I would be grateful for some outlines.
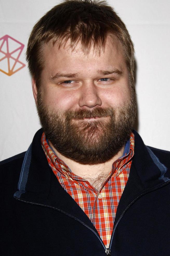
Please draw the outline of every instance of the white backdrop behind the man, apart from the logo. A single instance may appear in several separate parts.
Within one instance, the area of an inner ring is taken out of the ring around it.
[[[19,57],[24,64],[33,25],[57,3],[0,0],[0,38],[8,34],[25,45]],[[135,45],[137,130],[145,144],[170,150],[170,1],[110,0],[109,3],[125,22]],[[0,61],[2,69],[1,66]],[[11,76],[0,72],[0,81],[0,160],[3,160],[27,150],[40,124],[27,65]]]

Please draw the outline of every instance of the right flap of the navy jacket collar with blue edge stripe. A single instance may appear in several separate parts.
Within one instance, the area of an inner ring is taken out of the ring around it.
[[[170,181],[166,177],[167,167],[143,143],[139,134],[136,131],[133,133],[135,135],[134,157],[127,184],[117,207],[115,223],[136,198]]]

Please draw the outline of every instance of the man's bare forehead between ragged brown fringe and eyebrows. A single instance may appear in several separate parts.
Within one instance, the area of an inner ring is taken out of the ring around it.
[[[91,45],[89,48],[84,48],[80,42],[76,45],[71,44],[70,40],[64,42],[59,47],[58,42],[53,43],[50,40],[45,44],[44,51],[44,68],[51,71],[51,74],[65,69],[74,72],[88,71],[89,69],[109,69],[109,68],[126,68],[123,47],[120,40],[110,35],[107,37],[104,46],[101,48]],[[107,66],[107,67],[106,67]]]

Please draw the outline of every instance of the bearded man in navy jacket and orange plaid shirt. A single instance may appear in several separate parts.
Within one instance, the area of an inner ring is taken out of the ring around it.
[[[1,162],[1,255],[169,255],[169,152],[133,129],[134,48],[105,2],[64,1],[27,48],[42,124]]]

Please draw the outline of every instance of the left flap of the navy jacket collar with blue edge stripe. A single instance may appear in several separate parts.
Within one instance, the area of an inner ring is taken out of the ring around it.
[[[79,219],[90,226],[93,224],[73,198],[62,188],[51,170],[41,146],[42,129],[38,130],[25,153],[14,197],[18,200],[48,206]]]

